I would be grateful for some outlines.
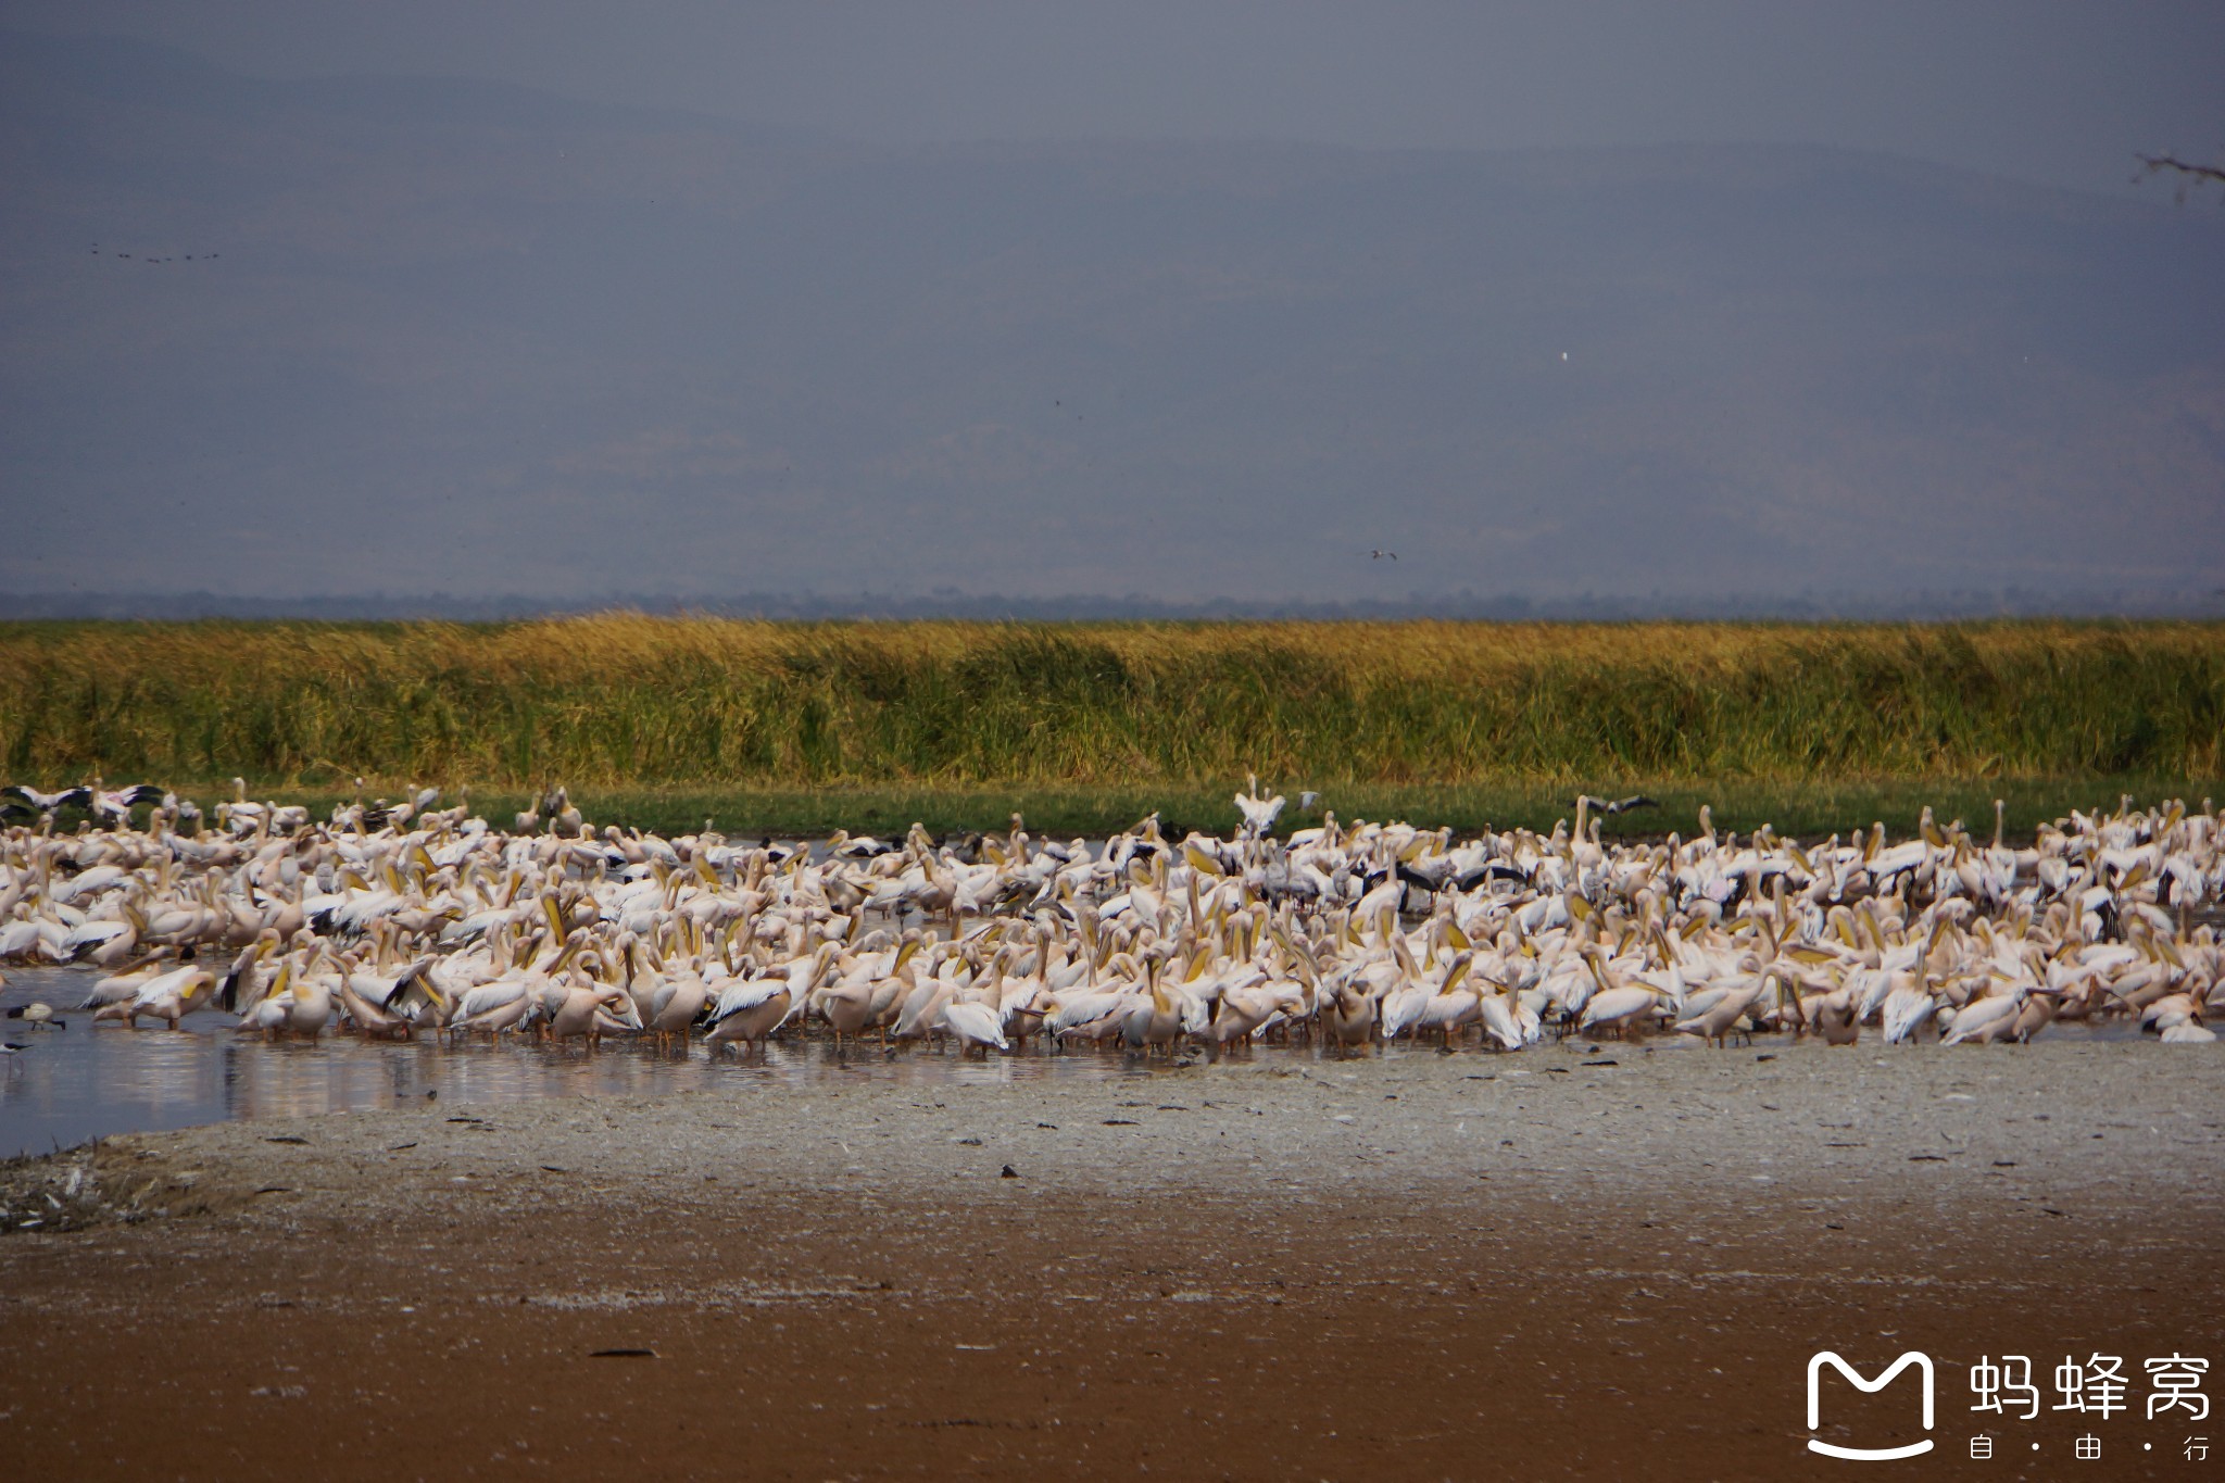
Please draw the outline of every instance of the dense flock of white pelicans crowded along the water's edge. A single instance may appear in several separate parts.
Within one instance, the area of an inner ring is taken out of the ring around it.
[[[1235,1052],[1413,1038],[1517,1052],[1546,1036],[1756,1032],[1851,1045],[2029,1041],[2123,1016],[2214,1041],[2225,947],[2218,818],[2123,800],[2029,847],[1960,820],[1889,840],[1573,827],[1455,840],[1339,825],[1230,838],[1157,816],[1097,847],[1003,834],[739,843],[592,829],[563,789],[501,829],[438,789],[202,816],[154,787],[4,789],[0,963],[102,969],[96,1023],[189,1009],[260,1036],[603,1036],[712,1054],[821,1027],[1008,1052]],[[145,809],[145,827],[134,823]],[[82,816],[82,818],[78,818]],[[71,829],[65,823],[73,820]],[[53,1025],[53,1007],[9,1012]],[[22,1049],[22,1045],[11,1045]]]

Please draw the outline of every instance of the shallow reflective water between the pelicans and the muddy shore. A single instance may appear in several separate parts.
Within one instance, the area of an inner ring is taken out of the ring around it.
[[[1148,1076],[1153,1065],[1117,1052],[1028,1054],[972,1061],[912,1047],[883,1058],[879,1052],[837,1058],[825,1041],[772,1045],[763,1061],[732,1054],[712,1061],[699,1043],[683,1052],[659,1052],[647,1043],[603,1041],[599,1052],[583,1045],[543,1045],[505,1038],[445,1043],[434,1036],[414,1043],[358,1041],[325,1034],[316,1043],[267,1045],[231,1032],[234,1016],[202,1009],[169,1029],[129,1032],[93,1027],[91,1014],[76,1012],[98,978],[78,967],[9,969],[0,987],[0,1009],[47,1001],[69,1029],[33,1032],[24,1021],[0,1021],[7,1041],[27,1045],[0,1067],[0,1158],[44,1154],[122,1132],[191,1127],[234,1118],[285,1118],[323,1112],[367,1112],[396,1107],[427,1094],[443,1103],[523,1103],[547,1096],[594,1096],[603,1092],[656,1096],[730,1085],[832,1085],[846,1076],[872,1076],[912,1085],[995,1085],[1028,1078],[1106,1081]],[[2116,1021],[2100,1027],[2056,1025],[2049,1038],[2138,1038],[2138,1029]],[[1767,1054],[1784,1036],[1760,1036]],[[1655,1036],[1658,1049],[1678,1045]],[[1593,1054],[1598,1047],[1571,1041],[1544,1052],[1555,1061]],[[1682,1049],[1682,1047],[1680,1047]],[[1693,1047],[1695,1049],[1695,1047]],[[2156,1047],[2167,1054],[2165,1047]],[[1257,1058],[1315,1061],[1319,1049],[1257,1049]],[[1386,1047],[1382,1054],[1433,1056],[1431,1047]],[[1471,1052],[1482,1054],[1482,1052]],[[1604,1054],[1618,1054],[1609,1045]],[[1700,1052],[1704,1054],[1704,1052]],[[1909,1047],[1907,1054],[1967,1054],[1940,1047]],[[1164,1065],[1164,1063],[1159,1063]]]

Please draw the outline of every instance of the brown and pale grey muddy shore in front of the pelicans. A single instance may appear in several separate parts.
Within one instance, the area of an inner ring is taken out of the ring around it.
[[[2225,1056],[2189,1052],[868,1063],[113,1138],[0,1174],[87,1221],[0,1241],[0,1470],[1829,1476],[1807,1356],[1916,1347],[1927,1467],[2063,1476],[2049,1414],[1965,1461],[1965,1365],[2225,1358]],[[1896,1401],[1836,1392],[1824,1439],[1922,1436]],[[2201,1472],[2187,1427],[2098,1430],[2080,1476]]]

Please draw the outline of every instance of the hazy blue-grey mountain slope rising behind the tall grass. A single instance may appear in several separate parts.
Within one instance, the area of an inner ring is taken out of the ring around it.
[[[2167,191],[859,145],[7,33],[0,198],[18,594],[2225,585],[2225,213]]]

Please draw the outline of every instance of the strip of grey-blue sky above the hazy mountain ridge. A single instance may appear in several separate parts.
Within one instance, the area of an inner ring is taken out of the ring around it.
[[[2136,151],[2225,151],[2214,0],[4,0],[0,22],[881,142],[1811,142],[2098,191]]]

